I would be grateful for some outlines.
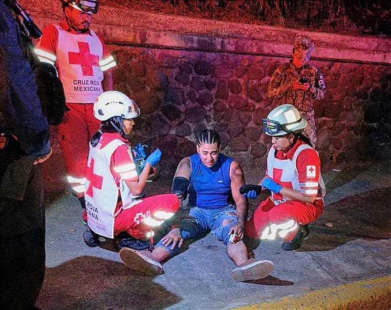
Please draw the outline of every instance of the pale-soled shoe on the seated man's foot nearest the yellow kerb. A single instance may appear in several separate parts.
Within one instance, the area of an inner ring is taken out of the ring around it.
[[[248,281],[266,278],[272,271],[274,265],[271,261],[256,261],[250,258],[231,272],[235,281]]]

